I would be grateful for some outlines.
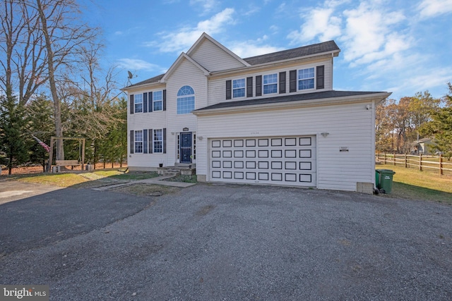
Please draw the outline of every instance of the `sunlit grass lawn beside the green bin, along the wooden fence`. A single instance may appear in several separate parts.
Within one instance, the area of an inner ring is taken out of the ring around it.
[[[393,176],[393,190],[385,197],[424,199],[452,204],[451,176],[439,176],[437,173],[392,164],[379,164],[376,165],[376,169],[391,169],[396,172]]]

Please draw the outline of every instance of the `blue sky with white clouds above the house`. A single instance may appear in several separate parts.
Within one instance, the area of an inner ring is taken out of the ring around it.
[[[452,82],[452,0],[85,1],[124,85],[127,70],[165,73],[203,32],[242,58],[333,39],[335,90],[442,97]]]

